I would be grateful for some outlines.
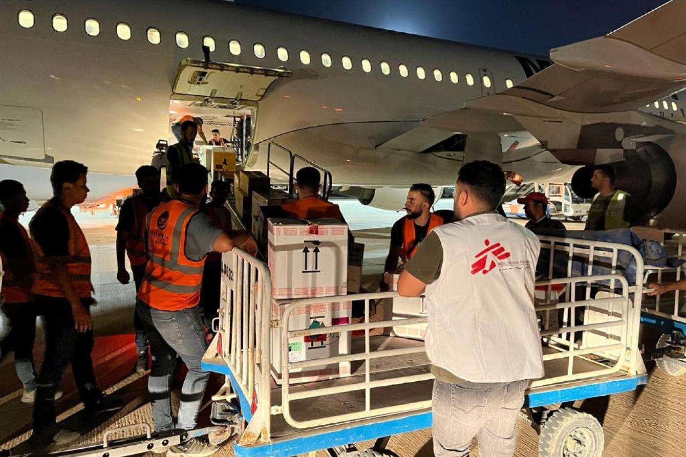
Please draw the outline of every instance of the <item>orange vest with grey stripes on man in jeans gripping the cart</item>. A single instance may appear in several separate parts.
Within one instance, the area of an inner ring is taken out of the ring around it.
[[[138,298],[148,306],[165,311],[190,308],[200,302],[200,285],[205,258],[186,257],[188,224],[198,212],[182,200],[171,200],[147,215],[147,265]]]

